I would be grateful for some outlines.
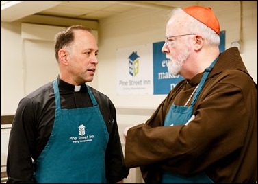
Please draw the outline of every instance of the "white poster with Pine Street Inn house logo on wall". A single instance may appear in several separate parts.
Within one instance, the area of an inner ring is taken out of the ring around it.
[[[153,45],[117,49],[118,95],[153,95]]]

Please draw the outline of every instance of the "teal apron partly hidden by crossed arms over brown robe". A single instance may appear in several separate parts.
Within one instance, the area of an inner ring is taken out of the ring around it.
[[[172,104],[172,106],[170,107],[170,110],[168,111],[168,114],[165,117],[164,126],[176,126],[176,125],[181,125],[188,122],[188,120],[192,117],[194,104],[196,103],[196,100],[198,99],[198,95],[200,95],[201,90],[203,89],[203,84],[205,83],[205,80],[209,75],[209,72],[211,71],[212,67],[214,67],[217,60],[218,59],[214,60],[214,62],[211,63],[210,67],[205,69],[200,84],[197,85],[196,89],[192,93],[193,96],[191,95],[192,102],[190,106],[187,106],[187,104],[185,104],[185,106],[176,106],[175,104]],[[214,182],[211,181],[211,179],[209,179],[209,177],[205,174],[205,172],[195,174],[194,176],[185,177],[185,176],[180,176],[179,174],[165,171],[162,175],[162,180],[160,183],[214,183]]]

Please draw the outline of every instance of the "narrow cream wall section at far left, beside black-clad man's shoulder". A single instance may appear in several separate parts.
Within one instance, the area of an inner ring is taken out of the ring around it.
[[[21,24],[1,22],[1,115],[14,115],[23,97]]]

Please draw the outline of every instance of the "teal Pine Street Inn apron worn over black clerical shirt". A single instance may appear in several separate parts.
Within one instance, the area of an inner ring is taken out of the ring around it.
[[[61,109],[57,80],[55,122],[36,160],[36,183],[107,183],[105,150],[109,135],[99,106],[88,88],[92,107]]]

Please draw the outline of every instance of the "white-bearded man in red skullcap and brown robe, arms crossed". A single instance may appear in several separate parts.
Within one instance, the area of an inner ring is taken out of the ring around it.
[[[179,82],[145,122],[125,128],[125,165],[145,183],[255,183],[257,85],[237,47],[219,51],[211,8],[175,8],[162,52]]]

